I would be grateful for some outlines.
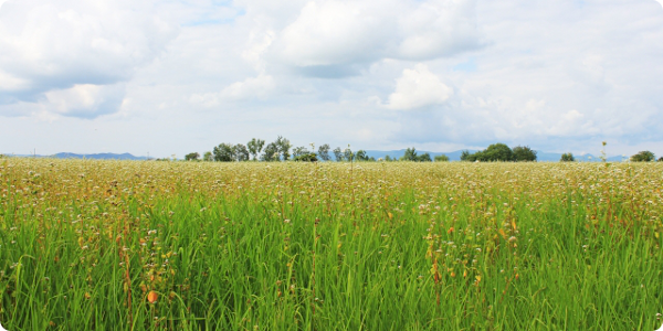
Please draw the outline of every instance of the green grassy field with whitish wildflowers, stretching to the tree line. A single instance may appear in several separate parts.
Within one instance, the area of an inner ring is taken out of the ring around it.
[[[663,164],[0,159],[15,330],[654,330]]]

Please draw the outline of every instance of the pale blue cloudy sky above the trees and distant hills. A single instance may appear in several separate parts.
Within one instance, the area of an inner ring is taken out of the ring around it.
[[[0,0],[0,153],[663,156],[657,0]]]

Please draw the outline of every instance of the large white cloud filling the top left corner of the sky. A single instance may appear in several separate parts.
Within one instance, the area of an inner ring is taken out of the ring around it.
[[[0,103],[36,103],[49,93],[128,81],[177,34],[154,9],[150,1],[6,1]]]

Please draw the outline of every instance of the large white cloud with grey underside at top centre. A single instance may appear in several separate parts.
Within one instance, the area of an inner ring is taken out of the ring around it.
[[[346,77],[383,58],[433,60],[478,49],[475,0],[307,2],[266,56],[304,76]]]

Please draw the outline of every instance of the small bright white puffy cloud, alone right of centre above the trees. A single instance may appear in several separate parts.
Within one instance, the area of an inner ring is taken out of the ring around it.
[[[396,90],[389,95],[388,108],[413,109],[444,104],[453,95],[453,89],[444,85],[424,64],[413,70],[404,70],[396,81]]]

